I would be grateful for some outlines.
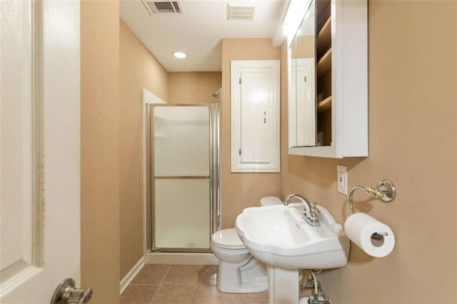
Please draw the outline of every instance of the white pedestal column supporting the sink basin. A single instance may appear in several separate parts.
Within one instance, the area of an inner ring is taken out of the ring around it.
[[[266,265],[268,304],[298,303],[298,269]]]

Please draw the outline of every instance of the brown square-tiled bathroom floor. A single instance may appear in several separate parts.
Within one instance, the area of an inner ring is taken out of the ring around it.
[[[121,304],[266,304],[268,292],[221,293],[217,266],[146,264],[121,295]]]

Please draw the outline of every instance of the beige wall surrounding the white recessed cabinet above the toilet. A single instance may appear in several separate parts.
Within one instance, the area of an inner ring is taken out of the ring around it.
[[[273,60],[281,58],[271,39],[222,40],[222,99],[221,99],[221,170],[222,226],[233,228],[235,218],[244,208],[258,206],[262,196],[281,194],[280,173],[230,172],[230,61]]]

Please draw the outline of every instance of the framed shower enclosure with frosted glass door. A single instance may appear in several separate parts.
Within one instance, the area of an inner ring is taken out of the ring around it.
[[[219,103],[146,107],[148,252],[209,252],[220,229]]]

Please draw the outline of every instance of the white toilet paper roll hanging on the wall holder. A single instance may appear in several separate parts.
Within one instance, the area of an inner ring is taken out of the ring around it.
[[[391,228],[368,216],[366,213],[355,213],[344,222],[344,230],[350,240],[368,255],[382,258],[392,252],[395,235]],[[387,235],[376,235],[387,233]]]

